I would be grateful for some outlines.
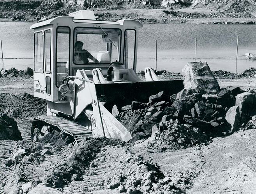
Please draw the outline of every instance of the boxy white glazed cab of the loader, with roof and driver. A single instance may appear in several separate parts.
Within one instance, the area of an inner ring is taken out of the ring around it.
[[[130,19],[96,20],[90,10],[80,10],[32,25],[34,96],[51,102],[60,100],[62,80],[75,76],[78,70],[86,70],[90,80],[93,80],[95,68],[100,69],[106,80],[109,64],[115,62],[122,63],[121,69],[136,72],[137,30],[141,27],[143,25],[139,21]],[[79,46],[82,44],[79,49],[75,47],[78,43]],[[90,59],[89,55],[96,60]]]

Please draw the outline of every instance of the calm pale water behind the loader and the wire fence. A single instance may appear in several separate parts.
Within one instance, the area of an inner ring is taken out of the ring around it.
[[[0,40],[4,58],[33,58],[33,23],[0,22]],[[256,68],[256,61],[244,60],[245,53],[256,53],[256,25],[209,24],[144,24],[139,29],[137,70],[155,67],[157,40],[157,69],[180,72],[187,62],[206,61],[212,70],[235,72],[237,35],[239,35],[237,71]],[[168,60],[164,60],[168,58]],[[203,58],[203,59],[202,59]],[[212,59],[214,58],[214,59]],[[0,61],[0,68],[2,68]],[[4,68],[33,68],[32,59],[5,59]]]

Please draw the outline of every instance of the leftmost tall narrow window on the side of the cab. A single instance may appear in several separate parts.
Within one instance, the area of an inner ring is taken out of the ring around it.
[[[35,33],[34,36],[34,71],[35,73],[43,73],[44,63],[42,32]]]

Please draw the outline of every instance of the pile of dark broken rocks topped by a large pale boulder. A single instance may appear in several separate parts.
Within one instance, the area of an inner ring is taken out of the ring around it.
[[[249,108],[256,107],[254,91],[220,89],[207,63],[187,64],[183,74],[185,88],[178,94],[169,97],[159,92],[150,96],[147,104],[132,102],[122,107],[120,120],[131,132],[132,142],[158,132],[154,140],[161,139],[161,144],[180,148],[196,145],[211,136],[239,130],[255,114]]]

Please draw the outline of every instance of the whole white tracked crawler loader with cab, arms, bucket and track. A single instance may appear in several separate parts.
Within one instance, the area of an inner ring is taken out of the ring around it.
[[[159,81],[145,68],[145,81],[136,74],[136,20],[97,20],[94,12],[79,10],[33,24],[34,96],[47,100],[47,115],[36,116],[34,131],[58,130],[80,142],[85,137],[109,137],[125,142],[130,132],[112,114],[132,101],[148,102],[150,95],[182,90],[182,80]]]

